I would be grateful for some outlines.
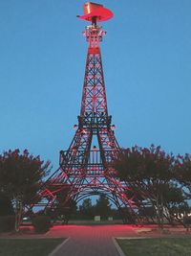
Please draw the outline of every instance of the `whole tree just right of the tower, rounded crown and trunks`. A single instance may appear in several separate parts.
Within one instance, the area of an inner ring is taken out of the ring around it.
[[[149,200],[159,224],[163,216],[169,218],[164,198],[168,194],[166,186],[174,179],[174,155],[161,151],[160,147],[151,145],[149,149],[133,147],[121,151],[114,167],[118,176],[128,181],[129,186],[140,198]]]

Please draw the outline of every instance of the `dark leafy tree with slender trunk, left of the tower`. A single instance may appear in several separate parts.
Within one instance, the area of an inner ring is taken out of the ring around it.
[[[4,151],[0,155],[0,191],[11,198],[15,212],[15,230],[19,230],[24,207],[32,203],[50,171],[50,161],[25,150]]]

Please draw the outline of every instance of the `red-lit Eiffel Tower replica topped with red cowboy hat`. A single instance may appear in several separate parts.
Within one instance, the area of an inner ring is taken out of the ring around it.
[[[105,32],[97,22],[113,17],[113,12],[95,3],[84,5],[84,15],[78,16],[91,25],[84,35],[89,44],[78,125],[68,151],[60,151],[59,168],[43,184],[38,194],[44,209],[55,210],[62,202],[103,195],[121,213],[124,222],[138,222],[138,198],[127,182],[117,177],[113,161],[121,151],[115,137],[112,116],[108,114],[105,82],[99,43]],[[34,204],[32,206],[35,206]]]

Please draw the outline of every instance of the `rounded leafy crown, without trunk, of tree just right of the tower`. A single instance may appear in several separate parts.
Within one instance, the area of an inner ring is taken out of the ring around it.
[[[173,177],[174,161],[173,154],[151,145],[149,149],[136,146],[121,151],[114,165],[121,179],[159,184]]]

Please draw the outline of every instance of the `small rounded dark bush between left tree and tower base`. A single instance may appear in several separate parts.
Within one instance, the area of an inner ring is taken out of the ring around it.
[[[33,218],[32,224],[36,233],[46,233],[51,228],[51,218],[48,216],[37,216]]]

